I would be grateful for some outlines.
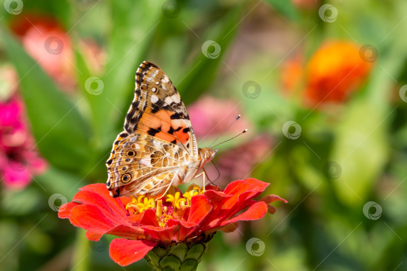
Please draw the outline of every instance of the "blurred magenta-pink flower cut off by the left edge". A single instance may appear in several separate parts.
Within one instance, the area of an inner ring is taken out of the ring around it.
[[[8,76],[8,77],[6,77]],[[17,96],[17,75],[9,66],[0,67],[0,93],[8,97],[0,101],[0,175],[6,187],[22,189],[32,176],[43,173],[47,163],[42,159],[30,134],[24,103]]]

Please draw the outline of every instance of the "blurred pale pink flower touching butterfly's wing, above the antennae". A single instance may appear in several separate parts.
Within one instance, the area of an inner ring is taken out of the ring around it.
[[[199,98],[188,106],[193,131],[197,138],[217,137],[242,113],[239,103],[233,100],[220,100],[211,96]],[[249,122],[241,117],[228,130],[228,134],[237,134],[249,128]]]

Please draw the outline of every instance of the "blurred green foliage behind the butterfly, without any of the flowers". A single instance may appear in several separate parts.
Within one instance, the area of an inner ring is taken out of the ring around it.
[[[203,93],[234,98],[257,131],[280,142],[252,176],[270,182],[267,192],[288,204],[276,204],[277,212],[261,221],[243,223],[241,233],[232,238],[216,234],[199,270],[407,269],[407,104],[398,96],[407,83],[407,3],[327,2],[338,9],[334,23],[318,16],[326,3],[314,10],[298,10],[289,1],[178,1],[176,18],[163,14],[163,3],[24,1],[24,11],[52,14],[71,30],[81,71],[76,74],[78,91],[73,97],[58,90],[8,30],[13,16],[19,15],[0,9],[1,60],[17,69],[34,137],[50,163],[47,173],[27,189],[1,192],[0,269],[122,269],[109,257],[111,237],[99,243],[87,241],[83,230],[58,219],[48,199],[59,193],[71,200],[78,188],[106,181],[104,163],[122,129],[134,73],[143,60],[156,63],[169,75],[186,104]],[[256,21],[259,10],[268,12],[275,25]],[[233,56],[248,22],[272,27],[275,44],[285,49],[274,53],[258,49],[257,44],[264,43],[258,37],[249,43],[250,54]],[[296,41],[285,45],[284,33],[295,33]],[[97,40],[107,51],[103,74],[88,70],[77,49],[80,37]],[[297,42],[309,56],[327,39],[354,39],[379,52],[367,83],[335,115],[304,109],[298,100],[283,97],[279,69],[272,70]],[[207,40],[219,43],[220,57],[202,54]],[[239,78],[227,67],[232,57],[241,58],[231,67]],[[102,94],[86,92],[83,86],[90,76],[103,80]],[[259,99],[243,95],[242,85],[248,80],[261,85]],[[301,125],[299,139],[282,134],[288,120]],[[340,165],[338,179],[324,174],[329,161]],[[363,214],[368,201],[382,207],[378,220]],[[265,243],[261,256],[246,250],[252,237]],[[144,260],[124,269],[150,270]]]

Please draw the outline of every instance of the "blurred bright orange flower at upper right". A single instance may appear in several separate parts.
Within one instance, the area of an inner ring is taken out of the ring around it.
[[[362,49],[353,42],[327,41],[311,56],[305,68],[301,69],[298,57],[285,64],[283,87],[292,92],[302,81],[303,101],[312,107],[345,101],[366,80],[372,67],[372,58],[362,59]]]

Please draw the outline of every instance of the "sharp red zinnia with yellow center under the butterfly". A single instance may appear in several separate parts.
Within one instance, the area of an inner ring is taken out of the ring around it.
[[[103,234],[123,237],[111,242],[109,252],[114,261],[128,265],[158,246],[201,241],[206,247],[215,231],[233,231],[240,220],[274,213],[268,204],[284,199],[269,195],[253,200],[267,186],[256,179],[234,181],[225,190],[208,185],[204,192],[191,185],[183,195],[175,188],[167,202],[158,200],[154,206],[153,199],[143,196],[112,198],[104,184],[91,184],[61,206],[58,215],[87,230],[89,240],[97,241]],[[150,263],[151,258],[147,260]],[[199,261],[200,257],[195,259],[196,264]]]

